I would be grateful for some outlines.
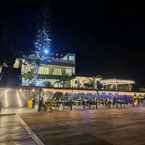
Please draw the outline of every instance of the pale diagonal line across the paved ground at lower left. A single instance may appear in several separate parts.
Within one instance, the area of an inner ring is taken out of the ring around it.
[[[32,129],[26,124],[26,122],[18,115],[16,114],[16,116],[18,117],[18,119],[20,120],[20,123],[22,124],[22,126],[26,129],[26,131],[28,132],[28,134],[31,136],[31,138],[34,140],[34,142],[37,145],[45,145],[41,139],[32,131]]]

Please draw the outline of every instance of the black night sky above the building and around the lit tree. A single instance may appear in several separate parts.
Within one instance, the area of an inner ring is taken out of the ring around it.
[[[143,2],[23,0],[0,4],[0,57],[33,48],[40,11],[48,7],[52,50],[77,53],[77,73],[135,79],[145,85]]]

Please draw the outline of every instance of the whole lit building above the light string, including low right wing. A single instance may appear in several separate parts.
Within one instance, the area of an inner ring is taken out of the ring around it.
[[[75,54],[49,57],[47,60],[16,59],[14,67],[21,66],[22,86],[47,88],[98,89],[107,91],[132,91],[135,81],[104,79],[101,76],[77,76]]]

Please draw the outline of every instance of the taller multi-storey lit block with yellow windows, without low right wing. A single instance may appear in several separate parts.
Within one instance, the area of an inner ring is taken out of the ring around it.
[[[75,54],[48,57],[45,60],[16,59],[14,67],[21,66],[22,86],[70,88],[75,76]]]

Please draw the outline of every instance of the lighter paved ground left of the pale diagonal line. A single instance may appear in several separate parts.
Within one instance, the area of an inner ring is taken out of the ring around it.
[[[36,145],[16,115],[0,115],[0,145]]]

